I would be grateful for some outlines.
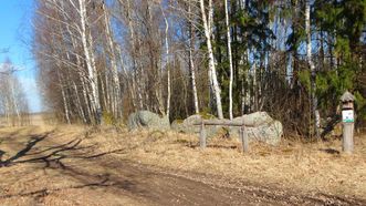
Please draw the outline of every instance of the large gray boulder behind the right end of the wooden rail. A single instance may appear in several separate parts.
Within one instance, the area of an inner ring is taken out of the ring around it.
[[[233,122],[244,122],[254,126],[247,126],[249,141],[260,141],[271,145],[278,145],[283,134],[282,123],[273,120],[266,112],[255,112],[233,119]],[[239,137],[239,127],[230,127],[230,136]]]

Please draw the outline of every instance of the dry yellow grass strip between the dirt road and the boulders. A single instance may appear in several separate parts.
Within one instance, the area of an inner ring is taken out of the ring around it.
[[[135,162],[179,172],[222,177],[223,183],[250,182],[299,193],[324,193],[342,197],[366,197],[366,140],[356,136],[354,155],[341,152],[341,141],[299,143],[283,141],[272,147],[251,143],[242,154],[237,140],[213,138],[200,150],[198,137],[177,133],[103,132],[94,140],[102,150],[127,150]]]

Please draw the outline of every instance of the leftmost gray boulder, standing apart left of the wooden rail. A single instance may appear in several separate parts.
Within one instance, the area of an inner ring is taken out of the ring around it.
[[[170,123],[167,116],[160,117],[149,111],[138,111],[128,116],[128,130],[137,130],[140,127],[167,131],[170,130]]]

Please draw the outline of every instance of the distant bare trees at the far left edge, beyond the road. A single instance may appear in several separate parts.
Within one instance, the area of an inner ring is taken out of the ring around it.
[[[0,64],[0,117],[9,126],[29,124],[29,107],[23,89],[13,74],[17,68],[8,59]]]

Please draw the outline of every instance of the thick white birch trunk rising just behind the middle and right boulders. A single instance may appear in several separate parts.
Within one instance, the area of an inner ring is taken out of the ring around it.
[[[211,4],[211,0],[210,0]],[[215,93],[216,97],[216,106],[218,111],[218,116],[219,119],[223,119],[222,114],[222,104],[221,104],[221,90],[220,85],[217,79],[217,73],[216,73],[216,68],[215,68],[215,56],[213,56],[213,51],[212,51],[212,44],[211,44],[211,32],[210,28],[208,25],[208,19],[206,17],[206,11],[205,11],[205,0],[200,0],[200,9],[201,9],[201,14],[202,14],[202,21],[203,21],[203,29],[205,29],[205,37],[206,37],[206,42],[207,42],[207,49],[209,53],[209,76],[211,81],[211,86]],[[212,7],[209,7],[209,13],[212,13]]]

